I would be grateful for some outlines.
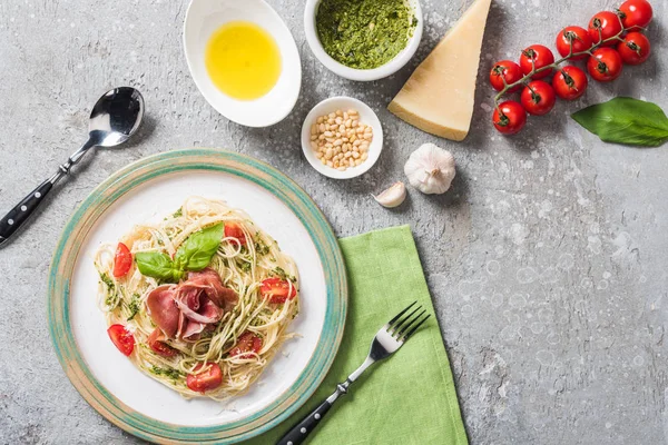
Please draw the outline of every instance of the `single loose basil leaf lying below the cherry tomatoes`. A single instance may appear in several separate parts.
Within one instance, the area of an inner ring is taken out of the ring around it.
[[[668,118],[652,102],[618,97],[571,115],[605,142],[658,147],[668,141]]]

